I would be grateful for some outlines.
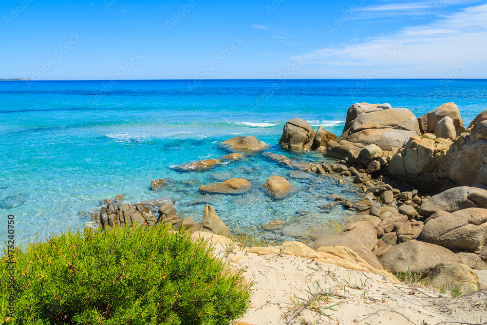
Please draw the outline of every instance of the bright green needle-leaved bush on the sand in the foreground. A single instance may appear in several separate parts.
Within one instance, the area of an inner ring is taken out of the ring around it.
[[[250,290],[203,242],[154,228],[85,229],[15,251],[10,324],[228,324]],[[7,254],[0,261],[0,324],[8,316]]]

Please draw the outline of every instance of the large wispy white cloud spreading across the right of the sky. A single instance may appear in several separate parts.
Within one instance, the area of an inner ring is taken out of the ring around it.
[[[398,44],[402,50],[398,50]],[[394,50],[397,53],[391,54]],[[391,74],[415,69],[421,74],[418,77],[442,77],[445,69],[457,62],[465,62],[470,68],[477,69],[471,73],[485,76],[486,53],[487,4],[483,4],[440,17],[427,25],[405,27],[395,34],[315,50],[303,57],[308,64],[379,66],[382,72],[389,70]],[[388,55],[384,65],[384,56]],[[467,71],[465,77],[468,77]]]

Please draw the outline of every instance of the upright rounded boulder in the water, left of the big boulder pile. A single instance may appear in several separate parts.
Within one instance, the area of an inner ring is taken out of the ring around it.
[[[310,150],[315,130],[303,119],[293,118],[284,125],[279,144],[289,150]]]

